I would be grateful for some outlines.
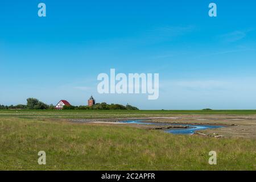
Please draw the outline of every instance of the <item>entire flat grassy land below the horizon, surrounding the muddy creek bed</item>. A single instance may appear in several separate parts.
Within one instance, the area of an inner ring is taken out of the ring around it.
[[[227,137],[214,138],[69,120],[148,117],[156,122],[236,126],[226,131],[216,130]],[[255,170],[255,122],[256,110],[0,110],[0,169]],[[230,131],[235,132],[238,126],[239,134],[232,135]],[[249,130],[251,128],[254,130]],[[246,133],[250,133],[250,137],[246,137]],[[39,151],[46,152],[46,165],[38,164]],[[217,165],[208,164],[209,151],[217,152]]]

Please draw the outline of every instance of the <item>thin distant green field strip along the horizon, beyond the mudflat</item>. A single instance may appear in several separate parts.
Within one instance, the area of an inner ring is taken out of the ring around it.
[[[19,118],[133,118],[171,117],[174,114],[249,115],[256,110],[0,110],[0,117]]]

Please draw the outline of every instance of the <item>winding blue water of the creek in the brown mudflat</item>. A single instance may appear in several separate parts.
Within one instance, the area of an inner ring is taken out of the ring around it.
[[[217,129],[223,126],[216,126],[216,125],[184,125],[184,124],[177,124],[177,123],[150,123],[150,122],[143,122],[145,120],[130,120],[130,121],[121,121],[123,123],[136,123],[141,125],[157,125],[157,126],[163,126],[163,125],[179,125],[179,126],[188,126],[186,129],[167,129],[164,130],[167,133],[172,134],[193,134],[195,131],[199,130],[206,130],[206,129]]]

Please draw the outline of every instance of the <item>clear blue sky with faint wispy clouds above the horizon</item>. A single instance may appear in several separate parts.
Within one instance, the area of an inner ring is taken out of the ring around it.
[[[38,17],[38,3],[47,17]],[[208,16],[210,2],[217,17]],[[0,2],[0,104],[256,109],[256,2]],[[98,94],[97,75],[159,73],[159,98]]]

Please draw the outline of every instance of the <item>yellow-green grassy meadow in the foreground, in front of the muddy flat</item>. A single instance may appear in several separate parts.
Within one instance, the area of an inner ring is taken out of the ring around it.
[[[128,126],[0,118],[1,170],[255,170],[255,140]],[[209,165],[209,151],[217,165]],[[38,152],[46,152],[46,165]]]

